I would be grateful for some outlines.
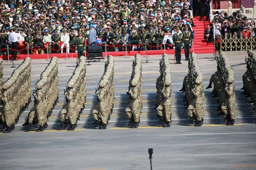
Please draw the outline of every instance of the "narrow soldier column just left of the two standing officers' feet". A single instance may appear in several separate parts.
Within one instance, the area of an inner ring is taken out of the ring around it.
[[[160,76],[157,78],[157,116],[160,118],[160,125],[170,127],[172,122],[172,81],[169,57],[163,54],[160,60]]]

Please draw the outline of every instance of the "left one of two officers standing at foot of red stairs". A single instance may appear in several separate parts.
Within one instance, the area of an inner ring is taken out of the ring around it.
[[[173,48],[175,49],[176,63],[181,64],[181,49],[183,48],[183,34],[180,33],[180,27],[176,27],[177,33],[173,35]]]

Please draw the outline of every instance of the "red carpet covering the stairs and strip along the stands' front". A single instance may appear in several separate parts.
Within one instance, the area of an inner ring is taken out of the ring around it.
[[[213,45],[209,45],[209,43],[204,40],[204,29],[206,29],[207,25],[210,23],[210,21],[199,21],[199,17],[195,17],[193,19],[195,26],[193,27],[193,31],[195,31],[194,35],[194,52],[195,54],[208,54],[208,53],[214,53],[214,47]],[[190,49],[192,52],[192,48]],[[164,50],[148,50],[147,54],[150,55],[161,55],[164,53]],[[184,54],[184,49],[182,49],[182,54]],[[134,56],[135,54],[140,54],[142,56],[145,56],[145,51],[130,51],[127,52],[128,56]],[[166,49],[166,54],[174,55],[174,50],[170,49],[169,51]],[[106,53],[103,52],[103,57],[105,57]],[[125,51],[122,52],[107,52],[107,55],[113,55],[114,57],[118,56],[125,56]],[[20,59],[24,59],[25,57],[28,57],[26,54],[20,54],[17,55],[17,57],[20,57]],[[47,54],[31,54],[29,55],[31,59],[47,59]],[[49,54],[49,59],[51,57],[58,57],[58,58],[66,58],[66,54]],[[68,58],[76,58],[76,53],[69,53],[67,54]],[[171,56],[170,56],[171,57]],[[7,56],[0,56],[0,58],[3,58],[4,60],[7,60]],[[12,55],[9,56],[9,59],[12,59]],[[17,58],[19,59],[19,58]]]

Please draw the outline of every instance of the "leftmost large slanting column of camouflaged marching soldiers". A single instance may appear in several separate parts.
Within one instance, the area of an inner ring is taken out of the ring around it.
[[[31,59],[25,58],[19,67],[13,71],[12,76],[3,83],[1,102],[3,104],[4,133],[15,129],[20,114],[31,101]]]

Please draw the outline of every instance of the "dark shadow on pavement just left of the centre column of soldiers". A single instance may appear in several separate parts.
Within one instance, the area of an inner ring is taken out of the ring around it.
[[[114,107],[117,106],[118,108],[113,110],[113,116],[116,115],[116,121],[114,123],[114,127],[128,127],[128,117],[127,114],[125,113],[125,109],[127,108],[127,99],[128,99],[127,94],[119,94],[119,97],[116,97],[115,101],[116,103],[114,104]],[[118,100],[119,99],[119,100]]]

